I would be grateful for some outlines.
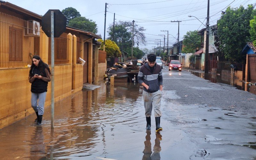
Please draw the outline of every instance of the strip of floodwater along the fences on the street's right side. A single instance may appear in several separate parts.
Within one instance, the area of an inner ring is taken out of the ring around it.
[[[225,75],[214,74],[214,73],[209,73],[208,75],[205,76],[204,73],[199,73],[194,71],[190,71],[190,73],[198,77],[207,79],[212,83],[217,83],[222,85],[225,85],[225,84],[231,85],[231,82],[230,82],[231,76],[225,76]],[[239,90],[256,94],[256,86],[254,81],[252,82],[252,84],[250,84],[235,78],[233,86],[235,86]]]

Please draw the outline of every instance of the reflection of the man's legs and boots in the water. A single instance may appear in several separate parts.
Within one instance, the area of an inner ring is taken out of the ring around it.
[[[143,150],[144,155],[142,156],[142,160],[152,160],[152,159],[156,159],[156,160],[160,160],[160,151],[161,151],[161,146],[160,146],[160,140],[162,140],[162,135],[157,132],[156,133],[156,139],[155,139],[155,145],[153,147],[153,154],[152,154],[152,150],[151,150],[151,132],[149,130],[147,130],[147,135],[146,135],[146,140],[144,141],[145,144],[145,148]]]

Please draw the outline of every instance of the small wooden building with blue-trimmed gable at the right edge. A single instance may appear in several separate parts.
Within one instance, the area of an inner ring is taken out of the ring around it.
[[[256,46],[252,42],[247,42],[242,50],[246,54],[245,82],[256,81]]]

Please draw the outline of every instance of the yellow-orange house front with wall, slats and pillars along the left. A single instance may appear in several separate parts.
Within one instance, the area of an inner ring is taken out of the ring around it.
[[[5,21],[5,22],[2,22]],[[35,37],[24,36],[26,31],[25,20],[19,19],[14,16],[7,15],[5,13],[0,13],[0,129],[18,121],[30,114],[34,114],[34,110],[31,107],[31,84],[28,82],[28,73],[29,69],[25,67],[27,64],[31,64],[30,54],[34,53],[34,41]],[[22,61],[14,62],[8,61],[8,29],[9,26],[17,26],[23,30],[22,36]],[[83,86],[83,66],[81,63],[76,63],[77,59],[77,49],[75,44],[75,36],[70,33],[67,35],[67,50],[68,50],[68,63],[54,65],[54,101],[59,101],[72,93],[81,91]],[[81,38],[81,37],[80,37]],[[88,37],[82,36],[81,42],[87,40]],[[38,38],[37,38],[38,40]],[[81,50],[80,55],[83,57],[83,43],[80,43]],[[92,78],[92,40],[89,40],[89,75],[88,77]],[[44,62],[48,62],[48,49],[49,47],[49,38],[40,30],[39,37],[39,56]],[[95,50],[96,51],[96,50]],[[98,54],[97,54],[98,55]],[[100,73],[95,73],[98,78],[97,81],[103,79],[101,75],[106,71],[106,63],[94,63]],[[51,65],[49,65],[51,69]],[[102,72],[102,73],[101,73]],[[99,75],[99,76],[98,76]],[[89,78],[88,78],[89,79]],[[92,79],[89,79],[89,83],[92,82]],[[48,83],[48,91],[46,94],[45,107],[49,107],[51,104],[51,83]]]

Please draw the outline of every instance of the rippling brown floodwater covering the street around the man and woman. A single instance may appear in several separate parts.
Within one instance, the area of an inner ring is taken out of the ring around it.
[[[164,87],[172,78],[195,77],[166,68],[163,76]],[[53,131],[51,107],[45,109],[42,126],[35,125],[33,114],[1,129],[1,159],[256,159],[255,115],[206,103],[182,104],[183,93],[166,85],[163,131],[156,134],[153,116],[151,132],[146,132],[138,83],[97,85],[55,103]]]

